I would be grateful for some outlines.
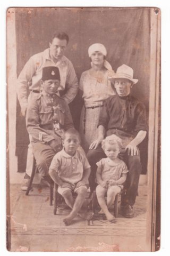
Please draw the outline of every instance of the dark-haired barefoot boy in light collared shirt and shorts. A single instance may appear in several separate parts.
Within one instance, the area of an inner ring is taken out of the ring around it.
[[[90,165],[80,147],[80,135],[71,128],[63,135],[63,149],[58,152],[49,167],[49,175],[58,184],[58,193],[64,197],[65,203],[72,209],[63,221],[70,225],[77,214],[91,219],[92,213],[80,212],[87,192]],[[72,191],[77,193],[73,198]]]

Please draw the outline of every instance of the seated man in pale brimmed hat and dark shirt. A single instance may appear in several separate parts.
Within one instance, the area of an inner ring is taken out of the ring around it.
[[[131,67],[122,65],[109,80],[114,84],[116,94],[104,102],[98,123],[98,138],[91,143],[87,154],[91,165],[89,185],[92,192],[96,187],[96,163],[106,157],[100,146],[101,141],[105,136],[117,135],[123,142],[119,157],[124,160],[129,170],[122,194],[122,213],[126,218],[132,218],[141,173],[138,145],[147,134],[146,110],[145,106],[131,95],[133,85],[138,82],[138,79],[133,78]]]

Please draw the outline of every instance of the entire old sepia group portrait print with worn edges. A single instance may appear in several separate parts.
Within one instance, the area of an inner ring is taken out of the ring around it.
[[[160,10],[10,7],[7,250],[160,247]]]

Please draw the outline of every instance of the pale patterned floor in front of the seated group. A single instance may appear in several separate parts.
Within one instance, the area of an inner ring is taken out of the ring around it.
[[[146,185],[139,186],[135,216],[110,223],[99,215],[90,221],[77,217],[65,226],[69,210],[53,214],[49,188],[33,188],[25,196],[20,185],[10,186],[11,251],[146,251]]]

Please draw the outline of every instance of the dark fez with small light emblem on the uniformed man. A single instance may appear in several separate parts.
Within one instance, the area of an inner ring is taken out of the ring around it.
[[[57,67],[44,67],[42,78],[43,81],[50,80],[50,79],[57,79],[60,80],[60,72]]]

